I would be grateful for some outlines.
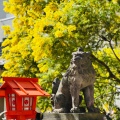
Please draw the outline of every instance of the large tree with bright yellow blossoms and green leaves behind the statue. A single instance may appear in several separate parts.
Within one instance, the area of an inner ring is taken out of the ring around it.
[[[96,70],[96,105],[114,106],[120,84],[120,7],[117,0],[9,0],[6,12],[14,14],[13,29],[3,26],[6,59],[3,76],[40,78],[51,93],[51,83],[69,66],[78,47],[92,53]],[[48,99],[39,99],[42,110]],[[108,102],[109,101],[109,102]]]

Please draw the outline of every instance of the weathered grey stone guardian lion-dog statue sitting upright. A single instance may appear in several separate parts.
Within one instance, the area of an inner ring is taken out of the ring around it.
[[[53,112],[80,112],[80,91],[83,91],[88,112],[99,112],[94,107],[95,70],[90,61],[90,53],[81,48],[72,53],[70,66],[61,81],[53,81]]]

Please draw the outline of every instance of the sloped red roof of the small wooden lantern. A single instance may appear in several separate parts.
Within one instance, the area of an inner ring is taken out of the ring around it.
[[[3,77],[3,80],[0,91],[9,86],[19,96],[50,96],[37,84],[37,78]]]

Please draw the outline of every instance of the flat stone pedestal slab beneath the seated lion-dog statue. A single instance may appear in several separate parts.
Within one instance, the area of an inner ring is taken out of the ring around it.
[[[44,113],[42,120],[106,120],[101,113]]]

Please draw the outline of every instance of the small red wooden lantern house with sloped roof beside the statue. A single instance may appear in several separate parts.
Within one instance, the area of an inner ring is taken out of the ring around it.
[[[3,77],[0,97],[6,98],[7,120],[35,120],[37,96],[49,96],[37,78]]]

